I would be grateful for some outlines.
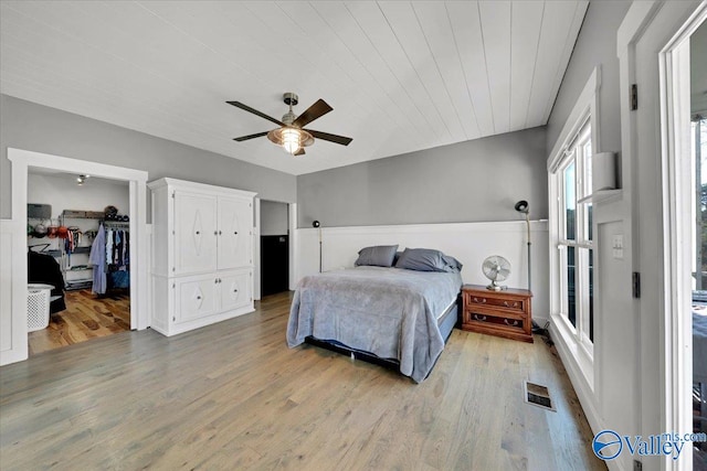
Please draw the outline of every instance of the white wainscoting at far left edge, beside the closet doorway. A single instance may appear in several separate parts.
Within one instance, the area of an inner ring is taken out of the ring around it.
[[[28,357],[23,258],[27,260],[27,223],[0,220],[0,365]],[[25,314],[13,317],[12,312]]]

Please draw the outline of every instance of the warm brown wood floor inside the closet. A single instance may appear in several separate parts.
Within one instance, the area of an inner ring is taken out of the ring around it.
[[[50,315],[46,329],[28,334],[30,355],[130,330],[130,297],[98,298],[89,289],[66,291],[66,310]]]

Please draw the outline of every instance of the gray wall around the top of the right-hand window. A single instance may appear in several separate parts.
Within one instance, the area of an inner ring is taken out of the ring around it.
[[[550,119],[548,119],[548,152],[552,150],[564,121],[577,103],[577,97],[584,88],[597,65],[601,65],[601,88],[599,90],[601,136],[600,148],[595,151],[621,151],[616,30],[630,6],[630,1],[592,1],[589,4],[582,29],[572,51],[572,57],[562,78],[560,92],[555,100]]]

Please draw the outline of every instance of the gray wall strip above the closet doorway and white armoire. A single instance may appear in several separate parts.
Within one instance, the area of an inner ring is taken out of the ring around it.
[[[146,170],[295,202],[296,178],[107,122],[0,95],[0,217],[11,217],[8,147]]]

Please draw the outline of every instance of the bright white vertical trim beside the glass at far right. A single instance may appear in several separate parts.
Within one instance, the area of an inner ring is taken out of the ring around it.
[[[693,430],[692,186],[689,40],[707,21],[700,3],[658,53],[661,168],[665,257],[665,424],[666,430]],[[699,267],[698,267],[699,269]]]

